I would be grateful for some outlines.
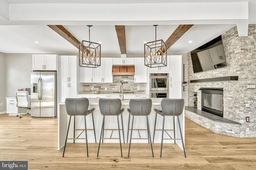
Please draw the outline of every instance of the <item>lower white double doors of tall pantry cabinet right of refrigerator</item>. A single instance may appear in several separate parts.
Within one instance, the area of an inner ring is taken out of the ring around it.
[[[61,83],[61,100],[65,101],[66,98],[76,98],[77,96],[77,84],[76,82],[62,82]]]

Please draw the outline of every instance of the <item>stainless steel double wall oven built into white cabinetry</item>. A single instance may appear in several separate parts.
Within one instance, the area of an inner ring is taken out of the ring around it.
[[[150,98],[169,98],[169,74],[150,73]]]

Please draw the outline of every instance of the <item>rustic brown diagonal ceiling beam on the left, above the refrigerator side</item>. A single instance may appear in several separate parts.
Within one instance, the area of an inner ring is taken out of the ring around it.
[[[74,45],[76,48],[79,49],[80,42],[62,25],[48,25],[51,29],[53,29],[56,33]]]

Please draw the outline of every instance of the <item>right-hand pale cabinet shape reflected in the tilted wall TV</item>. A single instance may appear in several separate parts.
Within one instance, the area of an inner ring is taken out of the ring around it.
[[[208,49],[210,54],[210,59],[213,65],[225,62],[225,52],[223,45],[218,45],[216,47]]]

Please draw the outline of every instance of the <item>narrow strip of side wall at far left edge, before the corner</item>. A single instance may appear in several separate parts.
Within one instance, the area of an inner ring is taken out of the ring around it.
[[[6,111],[5,78],[5,54],[0,52],[0,103],[3,103],[3,106],[0,106],[0,113]]]

